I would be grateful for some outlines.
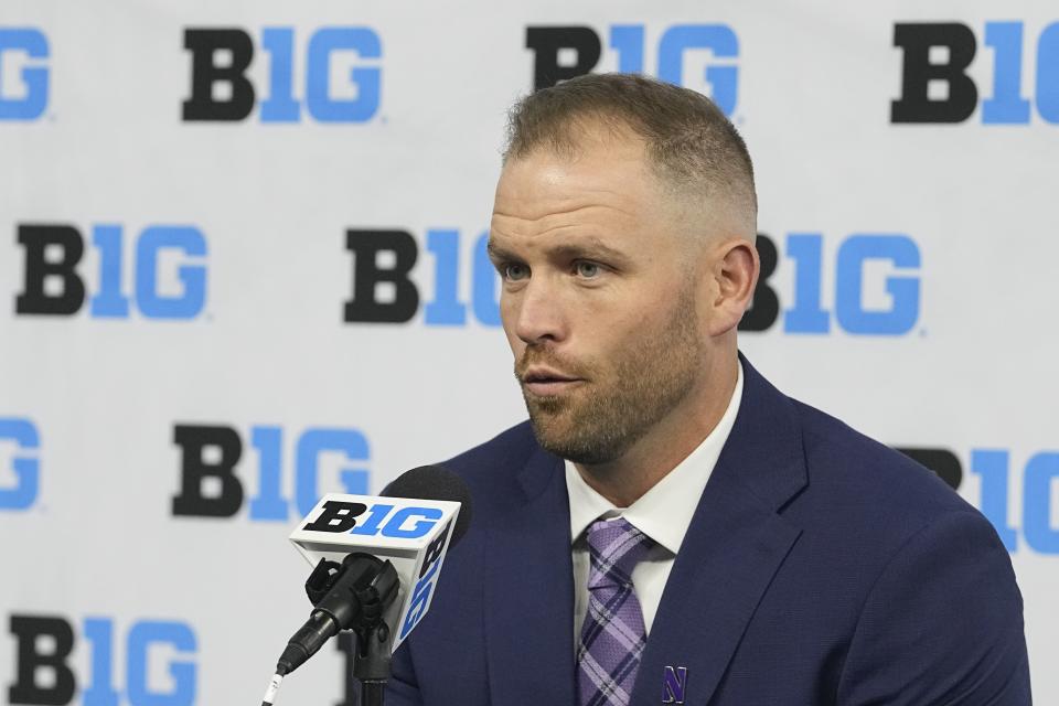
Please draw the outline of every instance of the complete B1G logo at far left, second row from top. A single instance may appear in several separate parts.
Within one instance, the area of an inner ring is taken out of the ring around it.
[[[128,319],[133,303],[145,319],[197,317],[206,301],[202,232],[190,225],[151,225],[135,244],[130,239],[121,225],[92,226],[95,263],[78,274],[86,247],[76,227],[20,225],[25,286],[15,298],[15,313],[72,315],[90,291],[88,315],[95,319]]]

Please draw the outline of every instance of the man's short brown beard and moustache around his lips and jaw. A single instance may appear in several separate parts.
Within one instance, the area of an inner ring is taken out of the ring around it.
[[[576,463],[613,461],[688,395],[703,364],[693,288],[657,329],[639,333],[607,360],[573,361],[546,346],[526,347],[515,366],[520,382],[538,363],[584,381],[564,395],[533,395],[523,385],[544,449]]]

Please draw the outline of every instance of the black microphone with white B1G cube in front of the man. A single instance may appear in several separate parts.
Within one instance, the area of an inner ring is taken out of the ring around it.
[[[371,664],[354,672],[364,671],[381,698],[389,655],[430,608],[446,553],[470,525],[470,500],[462,479],[440,466],[403,473],[382,496],[323,496],[290,534],[315,565],[306,581],[313,609],[277,662],[263,706],[285,675],[349,629],[370,643],[359,645],[359,656]]]

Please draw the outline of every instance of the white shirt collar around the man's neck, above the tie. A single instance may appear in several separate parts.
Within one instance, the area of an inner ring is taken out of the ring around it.
[[[736,388],[728,407],[703,442],[670,471],[661,481],[629,507],[614,507],[610,501],[592,490],[566,461],[566,490],[570,499],[570,537],[578,537],[596,520],[622,516],[673,554],[681,549],[684,535],[692,524],[698,500],[706,490],[721,449],[728,440],[742,399],[742,363],[737,366]]]

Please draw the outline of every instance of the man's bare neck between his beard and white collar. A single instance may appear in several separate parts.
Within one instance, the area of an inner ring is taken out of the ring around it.
[[[616,507],[628,507],[691,456],[717,427],[736,389],[739,361],[721,362],[702,388],[660,419],[621,457],[606,463],[575,463],[581,478]]]

